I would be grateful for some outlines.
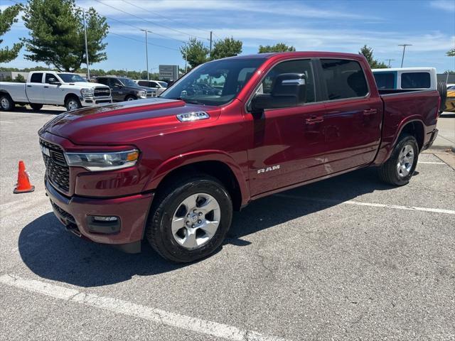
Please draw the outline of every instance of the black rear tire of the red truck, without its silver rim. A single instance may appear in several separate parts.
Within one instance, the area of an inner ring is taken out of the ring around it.
[[[400,174],[397,164],[400,162],[400,153],[405,150],[407,146],[412,148],[414,157],[412,160],[412,165],[410,166],[410,171],[407,175]],[[417,161],[419,159],[419,145],[414,136],[409,134],[403,134],[395,148],[392,151],[390,158],[382,164],[379,168],[379,177],[385,183],[395,186],[406,185],[410,182],[410,178],[414,174],[415,168],[417,166]]]

